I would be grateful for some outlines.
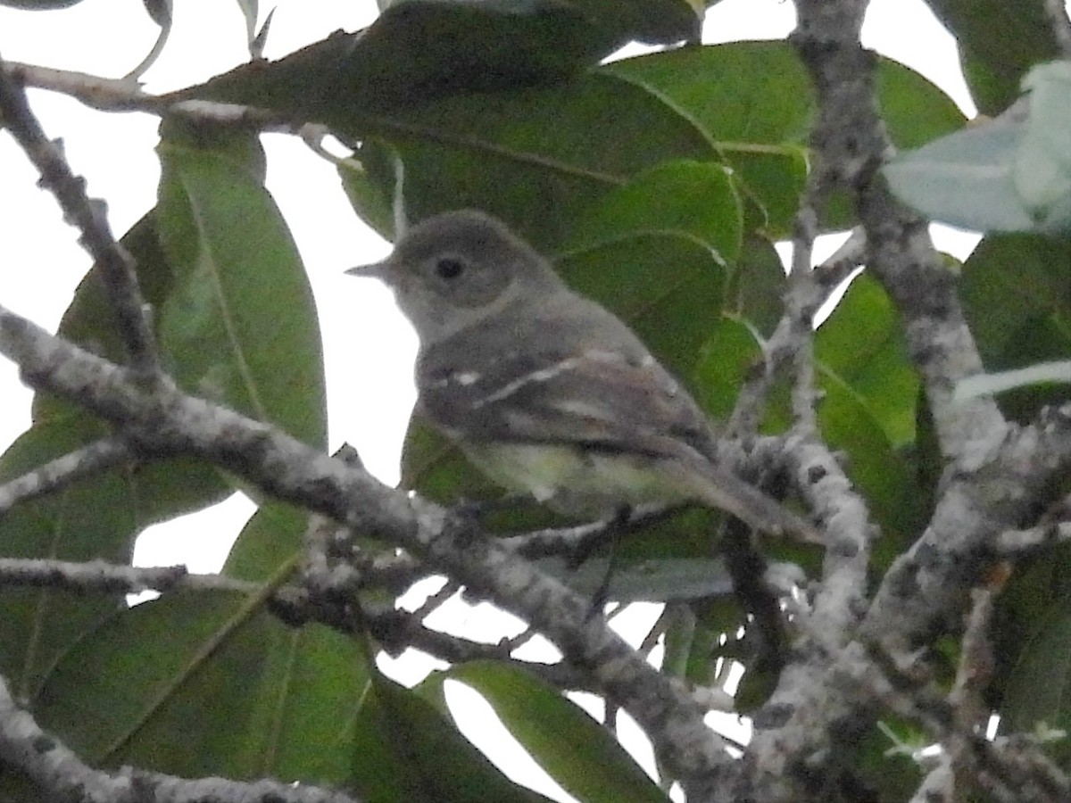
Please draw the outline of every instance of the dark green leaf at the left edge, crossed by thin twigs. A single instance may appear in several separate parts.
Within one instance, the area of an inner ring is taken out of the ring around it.
[[[0,482],[60,457],[102,435],[85,418],[37,423],[0,457]],[[61,491],[22,502],[3,516],[7,558],[94,558],[125,563],[137,531],[131,484],[112,469]],[[0,672],[18,697],[31,697],[52,664],[122,604],[119,594],[0,587]]]

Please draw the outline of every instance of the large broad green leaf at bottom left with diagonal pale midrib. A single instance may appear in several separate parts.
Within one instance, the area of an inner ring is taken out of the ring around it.
[[[179,592],[84,638],[35,711],[94,764],[342,784],[366,683],[346,636],[285,627],[254,597]]]

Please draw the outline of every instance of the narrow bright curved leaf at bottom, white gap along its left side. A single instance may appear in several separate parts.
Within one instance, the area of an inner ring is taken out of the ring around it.
[[[470,662],[425,684],[438,685],[446,678],[482,694],[540,767],[578,800],[665,803],[662,790],[602,725],[528,672]]]

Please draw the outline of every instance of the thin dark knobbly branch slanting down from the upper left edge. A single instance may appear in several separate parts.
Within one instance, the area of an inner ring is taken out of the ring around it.
[[[135,276],[133,257],[111,234],[103,200],[86,195],[86,180],[76,177],[63,157],[60,140],[49,140],[30,110],[26,91],[0,61],[0,117],[41,173],[41,184],[56,196],[64,219],[81,230],[80,242],[101,267],[119,330],[131,363],[142,379],[159,376],[156,345],[148,307]]]

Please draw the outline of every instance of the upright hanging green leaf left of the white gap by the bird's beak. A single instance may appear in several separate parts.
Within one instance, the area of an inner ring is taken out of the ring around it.
[[[179,275],[160,322],[174,376],[325,448],[316,307],[278,209],[227,153],[168,139],[160,153],[161,240]]]

